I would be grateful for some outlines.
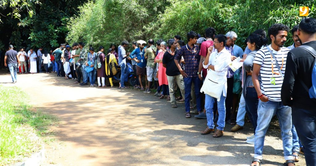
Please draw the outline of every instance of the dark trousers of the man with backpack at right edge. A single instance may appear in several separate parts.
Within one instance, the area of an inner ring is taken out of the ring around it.
[[[314,166],[316,163],[316,109],[311,111],[292,107],[292,122],[304,146],[306,165]]]

